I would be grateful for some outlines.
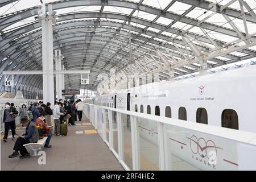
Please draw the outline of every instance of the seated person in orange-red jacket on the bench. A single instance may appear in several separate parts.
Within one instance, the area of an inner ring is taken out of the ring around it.
[[[36,126],[43,126],[44,127],[44,137],[47,137],[46,144],[44,145],[45,148],[51,148],[52,146],[49,144],[49,141],[52,137],[52,130],[48,127],[46,123],[44,123],[44,119],[46,119],[46,112],[43,111],[39,114],[39,118],[36,119]]]

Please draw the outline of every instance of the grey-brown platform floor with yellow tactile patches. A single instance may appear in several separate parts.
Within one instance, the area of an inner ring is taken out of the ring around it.
[[[17,134],[23,132],[24,128],[17,127]],[[8,142],[5,143],[2,137],[1,135],[1,170],[3,171],[124,170],[84,114],[81,122],[76,121],[76,126],[68,126],[67,136],[53,135],[50,142],[52,148],[42,149],[46,152],[46,164],[38,164],[40,156],[25,159],[8,158],[13,153],[15,140],[8,138]]]

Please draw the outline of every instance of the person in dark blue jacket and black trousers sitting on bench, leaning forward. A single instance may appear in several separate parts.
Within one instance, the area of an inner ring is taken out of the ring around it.
[[[19,138],[16,140],[13,147],[14,152],[13,154],[9,155],[9,158],[18,157],[19,152],[21,155],[19,156],[20,159],[30,157],[30,153],[28,153],[26,148],[23,147],[23,144],[38,142],[39,134],[38,134],[38,129],[36,128],[36,123],[28,122],[27,117],[21,118],[20,123],[22,123],[22,126],[27,126],[26,134],[19,135]]]

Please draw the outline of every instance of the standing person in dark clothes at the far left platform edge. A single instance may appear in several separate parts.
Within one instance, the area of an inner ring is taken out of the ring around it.
[[[11,107],[9,102],[6,102],[5,107],[6,109],[3,111],[3,123],[5,123],[5,136],[3,137],[3,141],[7,142],[9,128],[11,128],[11,134],[13,135],[12,139],[14,140],[14,135],[16,134],[15,118],[18,116],[19,112],[15,109],[15,107]]]

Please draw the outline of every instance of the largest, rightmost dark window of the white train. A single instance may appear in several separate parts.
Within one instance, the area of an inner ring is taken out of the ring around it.
[[[221,114],[221,126],[238,130],[238,115],[233,109],[225,109]]]

